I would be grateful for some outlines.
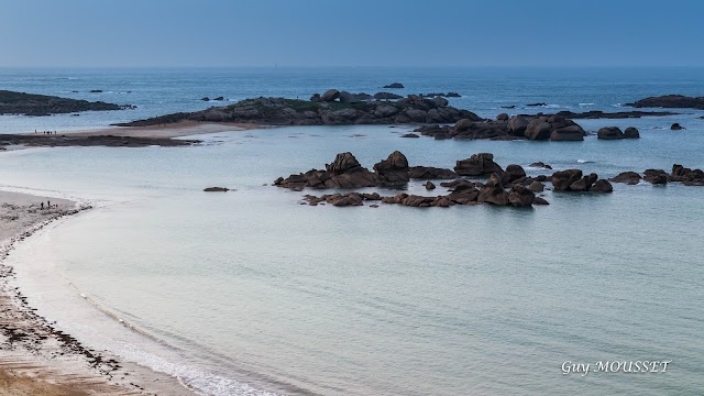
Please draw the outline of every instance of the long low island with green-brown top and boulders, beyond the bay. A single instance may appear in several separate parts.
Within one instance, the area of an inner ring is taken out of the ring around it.
[[[336,99],[340,98],[339,94],[338,91]],[[331,95],[336,97],[334,92]],[[117,125],[147,127],[184,120],[261,125],[454,123],[461,119],[481,120],[471,111],[448,106],[448,100],[444,98],[426,99],[409,95],[396,101],[326,100],[322,100],[322,96],[321,101],[284,98],[245,99],[230,106],[211,107],[190,113],[166,114]]]

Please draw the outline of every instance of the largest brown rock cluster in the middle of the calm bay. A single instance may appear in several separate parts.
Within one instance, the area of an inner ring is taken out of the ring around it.
[[[536,163],[548,168],[549,165]],[[396,204],[411,207],[449,207],[454,205],[491,204],[496,206],[525,207],[548,205],[537,193],[546,189],[544,183],[550,180],[556,191],[573,193],[610,193],[613,187],[608,180],[600,179],[596,174],[582,175],[580,169],[556,172],[551,177],[540,175],[529,177],[520,165],[512,164],[504,169],[494,162],[493,154],[474,154],[466,160],[458,161],[454,170],[408,165],[406,156],[396,151],[386,160],[374,165],[371,172],[356,161],[351,153],[340,153],[324,170],[311,169],[305,174],[279,177],[275,186],[302,190],[306,187],[316,189],[352,189],[365,187],[405,188],[410,179],[427,179],[426,189],[433,190],[436,185],[430,179],[452,179],[440,183],[450,188],[450,194],[438,196],[419,196],[400,193],[394,196],[380,196],[376,193],[330,194],[320,197],[307,195],[309,205],[321,202],[333,206],[361,206],[365,200],[381,200],[384,204]],[[469,180],[460,176],[486,177],[484,182]]]

